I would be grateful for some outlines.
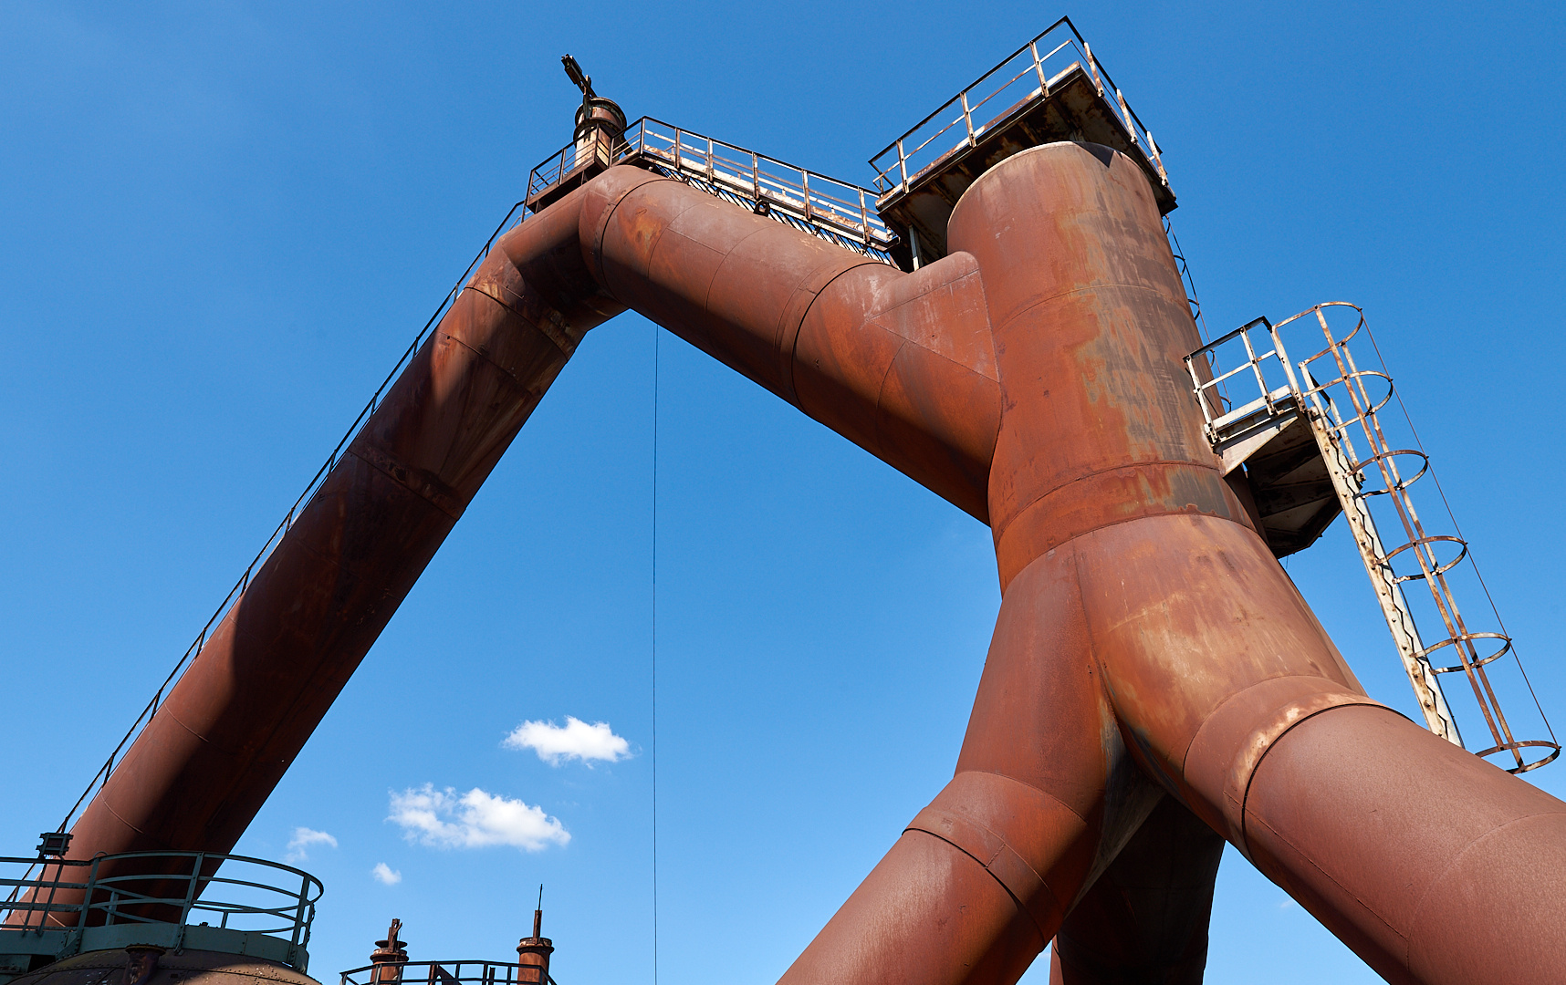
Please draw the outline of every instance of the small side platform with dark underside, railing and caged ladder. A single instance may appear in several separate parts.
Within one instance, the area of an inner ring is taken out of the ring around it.
[[[1339,337],[1330,315],[1353,318],[1353,327]],[[1309,346],[1325,346],[1294,362],[1283,343],[1287,326]],[[1309,341],[1309,329],[1320,329],[1315,341]],[[1475,755],[1499,759],[1496,764],[1513,774],[1544,766],[1560,755],[1560,742],[1536,698],[1549,739],[1519,739],[1502,713],[1496,661],[1511,655],[1530,697],[1532,686],[1494,606],[1496,630],[1474,630],[1458,608],[1458,572],[1480,589],[1483,581],[1456,523],[1452,534],[1430,532],[1414,509],[1409,487],[1430,471],[1430,459],[1411,424],[1409,446],[1387,438],[1378,412],[1394,398],[1392,377],[1384,368],[1362,370],[1355,362],[1348,341],[1361,332],[1373,346],[1364,312],[1333,301],[1276,326],[1257,318],[1187,355],[1207,437],[1231,482],[1243,479],[1262,534],[1279,557],[1308,547],[1339,511],[1344,514],[1430,731],[1463,745],[1441,686],[1441,675],[1461,672],[1472,691],[1463,703],[1483,717],[1491,738]],[[1409,468],[1413,474],[1405,474]],[[1389,531],[1398,531],[1398,547],[1387,550],[1377,514]],[[1411,600],[1403,590],[1408,583],[1423,583],[1428,598],[1416,592]],[[1416,606],[1427,628],[1438,626],[1436,642],[1420,636]]]

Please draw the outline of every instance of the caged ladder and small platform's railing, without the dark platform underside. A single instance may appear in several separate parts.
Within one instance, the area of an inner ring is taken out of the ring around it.
[[[1348,315],[1353,327],[1340,334],[1331,324],[1330,313]],[[1304,359],[1290,359],[1283,341],[1283,329],[1290,324],[1298,324],[1301,332],[1306,327],[1319,329],[1320,338],[1309,345],[1325,341],[1325,346]],[[1485,720],[1489,733],[1491,744],[1475,755],[1499,758],[1497,766],[1513,774],[1544,766],[1560,755],[1560,742],[1517,659],[1511,636],[1506,634],[1450,504],[1445,503],[1445,493],[1431,471],[1430,456],[1392,387],[1384,360],[1380,370],[1361,368],[1348,348],[1350,340],[1361,334],[1380,360],[1380,348],[1370,335],[1364,312],[1358,305],[1333,301],[1306,308],[1276,326],[1257,318],[1187,355],[1207,437],[1220,445],[1228,435],[1250,432],[1267,418],[1303,413],[1317,437],[1328,473],[1334,478],[1356,547],[1405,658],[1427,725],[1458,745],[1463,744],[1447,708],[1449,697],[1460,698],[1442,694],[1438,683],[1439,675],[1461,672],[1472,692],[1463,695],[1461,703]],[[1261,345],[1253,335],[1261,337]],[[1220,362],[1232,368],[1221,370]],[[1242,396],[1226,393],[1231,388]],[[1406,437],[1400,434],[1392,440],[1380,412],[1395,396],[1406,423]],[[1427,474],[1447,507],[1452,532],[1431,532],[1434,528],[1414,507],[1409,487]],[[1398,547],[1387,550],[1378,526],[1398,531]],[[1460,592],[1460,581],[1470,581],[1472,586]],[[1422,583],[1428,589],[1428,598],[1422,592],[1414,592],[1411,598],[1403,590],[1409,583]],[[1475,594],[1474,589],[1489,604],[1489,615],[1481,617],[1481,623],[1494,628],[1475,628],[1480,623],[1470,622],[1472,612],[1464,614],[1458,606],[1458,597]],[[1436,642],[1427,645],[1417,625],[1436,626]],[[1519,739],[1502,711],[1492,670],[1499,669],[1496,661],[1506,655],[1511,655],[1510,666],[1521,681],[1514,689],[1525,691],[1532,698],[1549,739]]]

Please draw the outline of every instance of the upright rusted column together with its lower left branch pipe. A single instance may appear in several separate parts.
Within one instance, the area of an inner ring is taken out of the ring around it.
[[[1071,144],[1002,163],[952,216],[1002,391],[1001,619],[955,778],[785,982],[1015,980],[1160,797],[1096,666],[1073,540],[1137,517],[1248,520],[1179,402],[1195,332],[1148,222],[1140,171]]]

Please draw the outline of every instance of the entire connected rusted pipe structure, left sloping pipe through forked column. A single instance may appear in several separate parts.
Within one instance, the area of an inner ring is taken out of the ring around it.
[[[1366,697],[1225,481],[1145,172],[1007,158],[907,274],[619,166],[503,236],[77,822],[229,850],[594,326],[631,308],[994,534],[952,781],[788,983],[1200,982],[1223,842],[1392,982],[1560,982],[1566,805]]]

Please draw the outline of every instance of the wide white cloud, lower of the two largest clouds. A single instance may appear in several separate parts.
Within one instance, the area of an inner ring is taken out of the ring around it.
[[[432,783],[409,788],[401,794],[392,791],[392,816],[402,825],[409,841],[437,849],[481,849],[492,844],[509,844],[528,852],[539,852],[550,844],[565,844],[570,833],[543,808],[528,806],[521,800],[487,794],[473,788],[465,794],[446,789],[437,791]]]

